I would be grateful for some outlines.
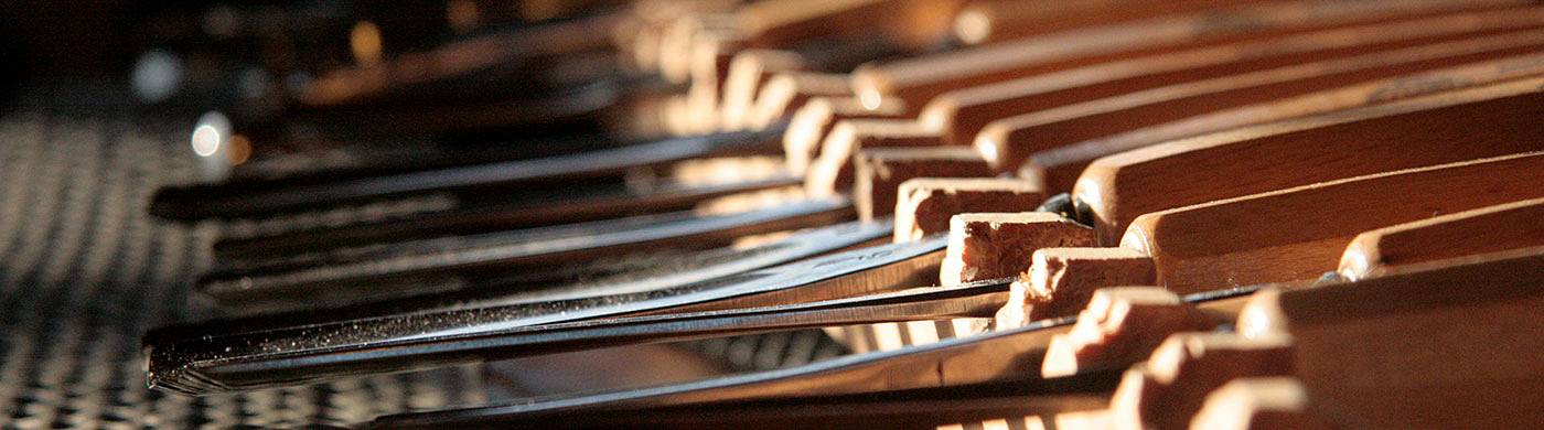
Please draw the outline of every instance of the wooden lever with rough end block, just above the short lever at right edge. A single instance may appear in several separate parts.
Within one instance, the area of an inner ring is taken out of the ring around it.
[[[999,322],[1065,316],[1099,287],[1177,293],[1315,279],[1353,236],[1394,223],[1536,199],[1544,154],[1529,153],[1306,185],[1141,216],[1121,248],[1048,248]],[[1484,191],[1476,191],[1484,190]],[[1065,296],[1062,296],[1065,294]],[[1065,297],[1065,299],[1064,299]]]

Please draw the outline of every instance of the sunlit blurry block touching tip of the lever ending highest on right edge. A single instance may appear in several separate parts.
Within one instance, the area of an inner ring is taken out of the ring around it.
[[[900,116],[900,103],[888,102],[869,108],[857,97],[812,97],[789,119],[783,134],[783,157],[794,174],[804,174],[820,154],[820,142],[838,122],[851,119],[885,119]]]

